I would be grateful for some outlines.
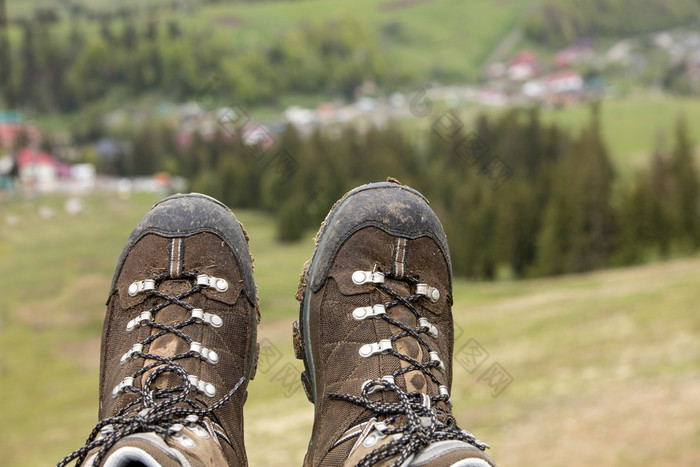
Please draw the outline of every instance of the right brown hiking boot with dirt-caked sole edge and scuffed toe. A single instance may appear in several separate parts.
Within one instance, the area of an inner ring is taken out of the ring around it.
[[[364,185],[326,217],[304,266],[295,349],[315,404],[306,466],[495,465],[452,416],[452,277],[417,191]]]

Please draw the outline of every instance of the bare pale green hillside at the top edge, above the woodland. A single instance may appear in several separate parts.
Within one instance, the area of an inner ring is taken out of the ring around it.
[[[454,80],[475,76],[479,66],[521,17],[531,0],[341,0],[270,2],[207,7],[193,23],[217,25],[236,43],[263,42],[304,21],[349,15],[382,38],[389,63],[414,76],[442,72]]]

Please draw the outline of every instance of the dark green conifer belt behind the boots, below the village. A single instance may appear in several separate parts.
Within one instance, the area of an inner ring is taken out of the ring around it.
[[[700,188],[683,119],[672,147],[657,148],[646,170],[624,180],[595,107],[577,133],[543,124],[537,110],[481,116],[469,132],[444,134],[444,123],[425,133],[390,124],[306,137],[288,126],[271,148],[226,131],[195,134],[183,147],[174,129],[146,127],[127,157],[101,169],[167,168],[192,190],[272,213],[282,240],[317,228],[347,190],[396,177],[423,192],[440,216],[455,274],[478,279],[589,271],[700,247]]]

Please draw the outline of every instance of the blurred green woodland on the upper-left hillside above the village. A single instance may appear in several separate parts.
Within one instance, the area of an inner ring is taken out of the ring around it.
[[[142,24],[116,13],[60,22],[39,10],[14,27],[14,96],[5,100],[36,112],[72,112],[144,93],[183,102],[195,99],[210,76],[246,105],[274,104],[289,93],[351,97],[365,80],[392,87],[405,78],[387,65],[371,28],[352,18],[301,24],[258,45],[209,30],[184,34],[176,20]]]

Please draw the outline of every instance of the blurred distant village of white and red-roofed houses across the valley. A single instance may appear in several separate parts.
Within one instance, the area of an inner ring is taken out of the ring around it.
[[[620,69],[632,75],[642,72],[648,65],[650,50],[665,53],[668,66],[679,69],[684,79],[700,89],[700,32],[660,32],[641,39],[625,39],[603,51],[596,50],[591,40],[578,41],[549,57],[520,50],[506,61],[488,65],[483,80],[477,84],[433,83],[412,93],[378,97],[376,86],[367,82],[358,89],[352,102],[325,102],[315,108],[292,106],[273,121],[258,121],[251,112],[233,102],[213,108],[201,102],[164,104],[159,118],[177,129],[177,143],[181,147],[192,144],[195,134],[207,140],[217,132],[241,138],[246,145],[264,147],[273,145],[275,135],[288,125],[301,135],[308,135],[317,128],[354,125],[362,131],[391,120],[416,118],[420,116],[412,105],[416,96],[457,109],[469,105],[576,106],[611,94],[613,89],[604,78],[606,70]],[[148,117],[115,110],[105,115],[104,121],[109,128],[126,119],[138,122]],[[53,153],[42,149],[43,142],[44,135],[31,122],[24,121],[19,112],[0,110],[0,194],[11,190],[81,193],[95,189],[185,189],[184,180],[166,173],[129,180],[100,176],[94,164],[76,163],[80,160],[80,149],[71,147],[69,142]],[[99,160],[130,151],[130,147],[104,138],[95,141],[91,150]]]

